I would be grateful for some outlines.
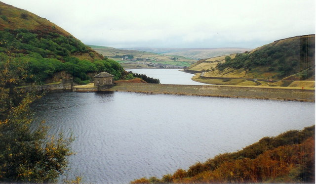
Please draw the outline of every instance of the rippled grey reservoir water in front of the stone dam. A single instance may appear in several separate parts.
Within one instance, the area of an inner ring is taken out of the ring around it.
[[[50,127],[48,134],[73,133],[77,154],[66,173],[93,184],[161,178],[315,124],[315,103],[293,101],[62,92],[45,95],[33,108],[36,122]]]

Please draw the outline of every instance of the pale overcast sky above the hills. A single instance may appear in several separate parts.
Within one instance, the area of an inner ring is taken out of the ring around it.
[[[1,0],[87,45],[255,48],[315,34],[315,0]]]

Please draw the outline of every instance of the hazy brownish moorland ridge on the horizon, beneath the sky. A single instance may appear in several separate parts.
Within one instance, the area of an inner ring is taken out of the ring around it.
[[[250,51],[250,48],[123,48],[129,50],[148,51],[164,55],[180,55],[192,59],[203,59],[229,55],[232,53],[242,53]]]

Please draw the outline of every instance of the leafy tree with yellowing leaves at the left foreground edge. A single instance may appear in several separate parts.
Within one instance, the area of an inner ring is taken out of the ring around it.
[[[40,98],[19,88],[28,76],[22,61],[0,54],[0,182],[54,182],[68,166],[73,138],[48,138],[33,122],[30,104]]]

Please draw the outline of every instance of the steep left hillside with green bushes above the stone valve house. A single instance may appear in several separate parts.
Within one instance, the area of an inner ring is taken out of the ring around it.
[[[69,79],[65,77],[68,74],[79,84],[88,83],[101,71],[115,75],[116,80],[126,74],[117,62],[104,58],[59,26],[0,2],[1,71],[5,63],[11,70],[24,71],[24,84],[58,82]]]

